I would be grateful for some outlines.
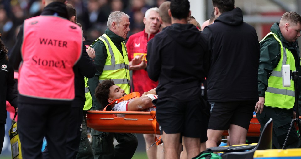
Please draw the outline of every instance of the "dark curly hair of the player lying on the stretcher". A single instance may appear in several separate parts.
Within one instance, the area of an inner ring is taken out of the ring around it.
[[[114,85],[113,80],[106,79],[102,83],[99,83],[95,89],[95,97],[103,108],[110,104],[108,102],[108,98],[110,94],[110,87],[112,85]]]

